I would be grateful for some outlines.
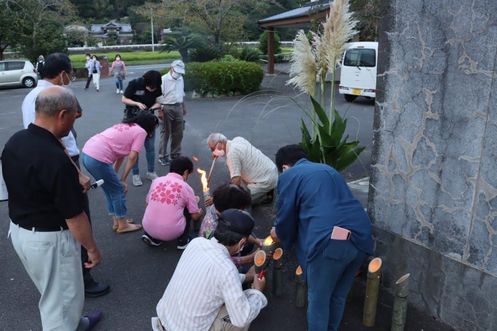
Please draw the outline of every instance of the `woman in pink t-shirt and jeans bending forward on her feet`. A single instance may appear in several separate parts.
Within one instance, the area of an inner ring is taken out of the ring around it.
[[[83,165],[96,180],[103,179],[102,190],[107,201],[107,211],[112,216],[113,229],[118,233],[141,228],[140,224],[126,222],[126,178],[144,146],[145,139],[154,133],[158,125],[158,118],[144,111],[91,137],[83,147]],[[126,156],[128,159],[119,178],[117,174]]]

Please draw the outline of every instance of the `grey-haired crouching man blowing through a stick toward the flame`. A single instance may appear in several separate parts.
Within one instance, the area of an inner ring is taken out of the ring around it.
[[[207,138],[207,145],[213,159],[226,155],[231,182],[250,190],[252,204],[272,202],[278,171],[269,157],[242,137],[228,140],[220,133],[212,133]],[[212,204],[211,199],[205,202]]]

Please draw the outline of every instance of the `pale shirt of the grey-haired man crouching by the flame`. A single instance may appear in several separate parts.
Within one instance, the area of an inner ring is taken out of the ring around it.
[[[240,176],[249,189],[270,191],[278,182],[276,164],[242,137],[228,140],[226,164],[231,178]]]

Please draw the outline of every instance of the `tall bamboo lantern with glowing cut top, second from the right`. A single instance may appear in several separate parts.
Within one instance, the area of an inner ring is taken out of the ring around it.
[[[366,299],[364,300],[363,324],[374,326],[376,319],[376,305],[378,303],[378,289],[381,277],[381,259],[375,258],[369,263],[368,283],[366,285]]]

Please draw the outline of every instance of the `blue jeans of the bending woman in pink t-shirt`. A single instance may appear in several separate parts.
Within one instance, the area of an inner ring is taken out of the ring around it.
[[[128,213],[126,209],[126,195],[124,195],[124,185],[114,171],[112,164],[103,163],[91,156],[81,153],[81,160],[86,170],[96,179],[103,179],[101,186],[105,201],[107,201],[107,211],[109,215],[116,218],[123,218]]]

